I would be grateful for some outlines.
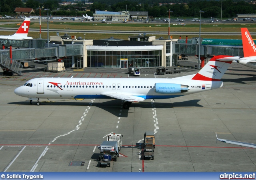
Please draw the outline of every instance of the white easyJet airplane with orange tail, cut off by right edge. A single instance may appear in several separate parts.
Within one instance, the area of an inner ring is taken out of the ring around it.
[[[247,28],[241,28],[244,57],[234,57],[237,63],[256,69],[256,45]]]

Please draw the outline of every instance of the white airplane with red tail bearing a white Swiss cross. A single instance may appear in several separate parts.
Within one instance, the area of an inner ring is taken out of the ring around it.
[[[33,39],[32,37],[28,37],[28,29],[30,24],[30,18],[26,18],[21,24],[18,31],[12,36],[0,36],[0,39],[8,39],[8,40],[28,40]]]

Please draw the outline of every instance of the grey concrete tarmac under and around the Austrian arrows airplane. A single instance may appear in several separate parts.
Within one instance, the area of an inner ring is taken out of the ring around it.
[[[136,78],[173,78],[198,72],[196,57],[179,61],[181,73]],[[232,63],[223,87],[173,99],[132,103],[115,99],[44,99],[30,105],[14,89],[36,77],[127,78],[127,69],[67,69],[44,72],[43,65],[5,77],[0,70],[0,171],[2,172],[255,172],[254,148],[216,141],[256,143],[256,71]],[[173,68],[173,67],[171,67]],[[78,71],[79,70],[79,71]],[[154,160],[142,159],[144,132],[155,131]],[[98,146],[121,133],[116,162],[100,167]]]

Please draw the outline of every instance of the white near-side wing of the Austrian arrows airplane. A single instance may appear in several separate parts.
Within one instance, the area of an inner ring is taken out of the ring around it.
[[[124,101],[128,101],[128,102],[139,102],[139,101],[144,101],[145,99],[142,98],[142,97],[138,97],[138,96],[135,96],[135,95],[132,95],[130,93],[121,93],[121,92],[118,92],[118,93],[113,93],[113,92],[104,92],[104,93],[101,93],[102,95],[105,95],[105,96],[109,96],[109,97],[112,97],[114,99],[121,99],[121,100],[124,100]]]

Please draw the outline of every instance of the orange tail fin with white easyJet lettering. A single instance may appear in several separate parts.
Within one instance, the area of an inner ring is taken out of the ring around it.
[[[256,56],[256,45],[247,28],[241,28],[244,57]]]

